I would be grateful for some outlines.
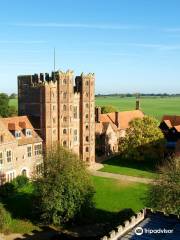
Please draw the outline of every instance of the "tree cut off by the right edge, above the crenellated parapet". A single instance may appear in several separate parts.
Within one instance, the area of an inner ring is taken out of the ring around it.
[[[170,160],[161,168],[146,201],[151,208],[180,215],[180,159]]]

